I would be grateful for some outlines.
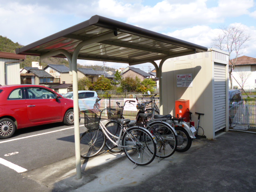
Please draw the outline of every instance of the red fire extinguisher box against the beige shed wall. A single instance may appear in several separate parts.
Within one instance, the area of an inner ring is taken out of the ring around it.
[[[187,110],[188,109],[188,110]],[[185,122],[189,122],[189,100],[178,99],[175,101],[175,117],[185,117]]]

